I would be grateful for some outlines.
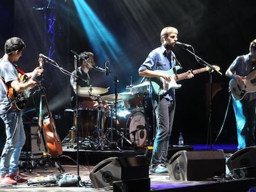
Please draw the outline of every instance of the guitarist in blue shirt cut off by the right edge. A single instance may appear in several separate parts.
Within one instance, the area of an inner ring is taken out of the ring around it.
[[[250,42],[249,53],[238,56],[226,70],[226,76],[243,85],[242,77],[247,76],[256,67],[256,39]],[[255,145],[255,108],[256,92],[245,94],[241,101],[233,97],[233,109],[236,116],[237,149]]]

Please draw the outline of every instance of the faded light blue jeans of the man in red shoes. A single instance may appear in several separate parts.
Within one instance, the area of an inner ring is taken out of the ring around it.
[[[6,144],[2,150],[0,176],[19,171],[19,159],[26,136],[23,128],[22,111],[0,114],[6,125]]]

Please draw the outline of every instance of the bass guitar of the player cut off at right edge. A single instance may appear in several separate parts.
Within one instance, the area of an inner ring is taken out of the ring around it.
[[[243,83],[238,83],[233,78],[229,81],[229,91],[231,91],[233,98],[237,100],[243,99],[247,93],[256,91],[256,70],[242,78]]]

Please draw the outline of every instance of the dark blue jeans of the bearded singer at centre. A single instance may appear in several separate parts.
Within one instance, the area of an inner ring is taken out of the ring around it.
[[[173,119],[175,112],[175,101],[162,98],[152,99],[152,106],[156,114],[156,136],[150,162],[150,169],[155,169],[158,165],[166,167],[169,148],[169,138],[173,129]]]

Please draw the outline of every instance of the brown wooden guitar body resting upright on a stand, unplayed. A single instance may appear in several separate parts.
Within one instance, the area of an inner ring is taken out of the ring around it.
[[[49,154],[53,157],[62,155],[62,144],[56,131],[54,119],[47,117],[43,120],[43,128],[45,130],[45,140]]]

